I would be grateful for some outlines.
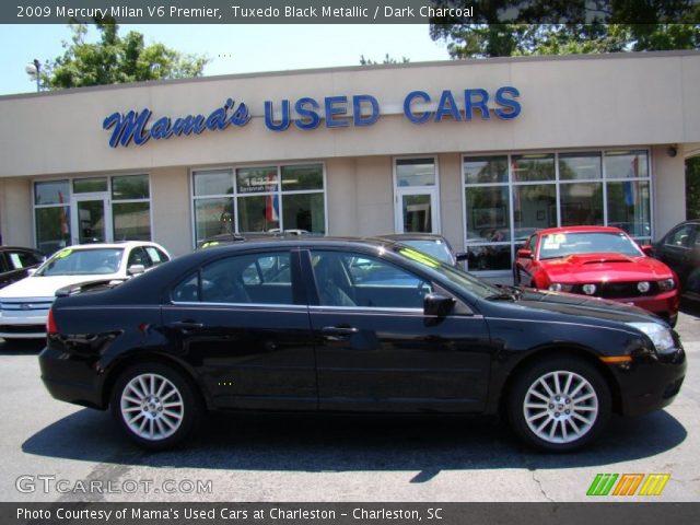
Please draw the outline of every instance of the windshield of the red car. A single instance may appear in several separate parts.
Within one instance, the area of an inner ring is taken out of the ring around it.
[[[623,233],[575,232],[542,235],[539,259],[556,259],[574,254],[615,253],[638,257],[641,250]]]

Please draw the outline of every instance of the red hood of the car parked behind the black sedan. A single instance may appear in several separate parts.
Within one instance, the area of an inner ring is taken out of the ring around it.
[[[652,257],[621,254],[581,254],[540,260],[551,282],[657,281],[673,277],[670,269]]]

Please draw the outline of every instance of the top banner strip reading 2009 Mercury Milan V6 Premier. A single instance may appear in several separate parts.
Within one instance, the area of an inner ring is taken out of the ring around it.
[[[700,24],[700,0],[4,0],[0,24]],[[638,7],[639,7],[638,5]],[[643,8],[643,9],[642,9]]]

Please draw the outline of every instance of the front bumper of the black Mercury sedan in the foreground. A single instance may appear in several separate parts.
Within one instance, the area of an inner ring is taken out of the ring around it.
[[[623,416],[641,416],[674,401],[688,364],[684,349],[678,348],[673,354],[635,357],[630,364],[610,368],[620,387],[620,411]]]

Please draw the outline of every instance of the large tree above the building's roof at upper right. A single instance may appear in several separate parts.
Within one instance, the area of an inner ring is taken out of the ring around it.
[[[442,0],[472,5],[472,16],[445,10],[431,19],[433,39],[453,58],[567,55],[700,48],[693,0]]]

